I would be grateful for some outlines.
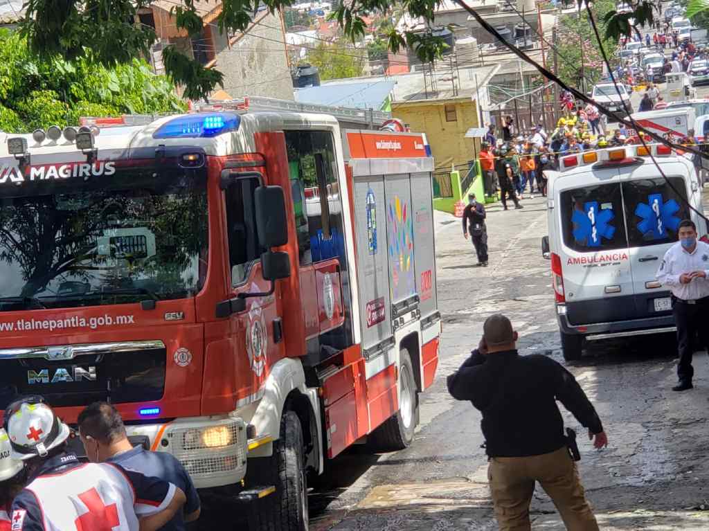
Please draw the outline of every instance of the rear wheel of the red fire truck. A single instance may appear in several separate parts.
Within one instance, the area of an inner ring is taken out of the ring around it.
[[[413,378],[413,364],[408,350],[401,349],[399,410],[369,435],[368,445],[375,452],[396,452],[408,448],[418,419],[418,394]]]

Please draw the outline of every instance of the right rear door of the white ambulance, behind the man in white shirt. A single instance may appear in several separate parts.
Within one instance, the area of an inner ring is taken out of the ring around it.
[[[665,252],[677,241],[679,222],[690,217],[697,222],[698,216],[690,216],[687,200],[700,205],[693,169],[674,158],[659,162],[667,180],[649,162],[621,170],[638,318],[671,313],[669,291],[656,280],[657,269]]]

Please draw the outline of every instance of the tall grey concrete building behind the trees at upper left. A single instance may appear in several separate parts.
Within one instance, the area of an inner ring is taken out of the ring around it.
[[[203,0],[195,6],[204,27],[197,38],[179,30],[170,10],[172,0],[155,0],[139,11],[140,22],[155,28],[160,42],[152,50],[152,63],[162,69],[162,50],[174,45],[189,57],[224,74],[223,92],[231,97],[268,96],[293,99],[284,24],[279,13],[258,11],[243,33],[220,32],[216,18],[222,11],[220,0]]]

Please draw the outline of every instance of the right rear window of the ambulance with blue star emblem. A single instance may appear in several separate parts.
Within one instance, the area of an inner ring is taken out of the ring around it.
[[[679,222],[689,218],[687,191],[681,177],[669,182],[672,186],[659,177],[623,183],[630,247],[677,241]]]

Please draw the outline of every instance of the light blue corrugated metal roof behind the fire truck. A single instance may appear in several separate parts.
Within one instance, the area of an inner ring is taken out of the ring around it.
[[[393,80],[372,82],[361,80],[311,86],[294,91],[296,101],[303,104],[337,105],[341,107],[373,108],[379,111],[394,88]]]

